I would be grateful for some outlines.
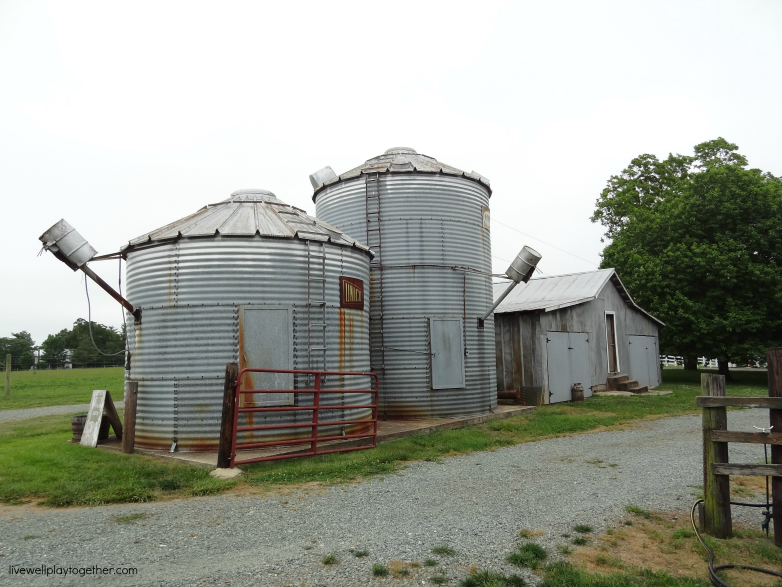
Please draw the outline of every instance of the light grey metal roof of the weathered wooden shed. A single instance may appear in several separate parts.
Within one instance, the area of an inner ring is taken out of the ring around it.
[[[598,269],[585,273],[568,273],[567,275],[550,275],[530,279],[529,283],[517,285],[508,294],[508,297],[497,306],[494,313],[506,314],[533,310],[551,312],[568,306],[584,304],[597,298],[609,281],[614,284],[617,292],[628,306],[642,312],[661,326],[665,326],[662,320],[655,318],[633,301],[615,269]],[[507,287],[507,281],[495,283],[494,299],[496,300]]]

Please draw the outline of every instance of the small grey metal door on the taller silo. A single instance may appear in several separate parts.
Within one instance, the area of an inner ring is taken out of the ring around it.
[[[464,388],[464,340],[461,318],[431,318],[432,389]]]

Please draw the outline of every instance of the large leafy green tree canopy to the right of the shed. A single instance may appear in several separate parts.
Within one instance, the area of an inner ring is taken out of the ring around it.
[[[592,221],[610,240],[601,267],[666,323],[664,352],[717,357],[724,372],[782,345],[782,178],[748,169],[736,145],[633,159]]]

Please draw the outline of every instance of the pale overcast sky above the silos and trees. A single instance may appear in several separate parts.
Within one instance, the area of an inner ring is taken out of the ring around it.
[[[86,318],[81,272],[36,257],[62,217],[110,253],[242,188],[314,214],[310,173],[394,146],[491,180],[496,272],[523,244],[594,269],[633,157],[722,136],[782,175],[780,30],[770,0],[0,0],[0,336]]]

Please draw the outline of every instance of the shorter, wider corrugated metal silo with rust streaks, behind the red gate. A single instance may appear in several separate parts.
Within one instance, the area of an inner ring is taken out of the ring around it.
[[[271,192],[234,192],[222,202],[130,241],[122,254],[127,259],[127,297],[142,309],[140,325],[132,319],[127,322],[127,377],[139,383],[139,447],[169,448],[175,442],[179,450],[216,449],[229,362],[239,363],[240,368],[369,371],[368,305],[341,307],[340,290],[344,278],[359,285],[368,282],[372,254],[365,245]],[[305,376],[252,377],[255,388],[312,386]],[[370,385],[369,377],[361,379],[366,381],[327,385],[332,389]],[[304,394],[253,397],[257,406],[294,401],[312,405],[312,396]],[[371,396],[327,395],[321,404],[345,405],[353,400],[371,403]],[[321,421],[365,419],[370,412],[329,410],[321,414]],[[240,425],[311,419],[307,411],[265,414],[242,414],[250,419]],[[323,427],[320,435],[359,433],[368,427]],[[309,428],[299,431],[274,436],[250,432],[240,434],[239,441],[310,434]]]

